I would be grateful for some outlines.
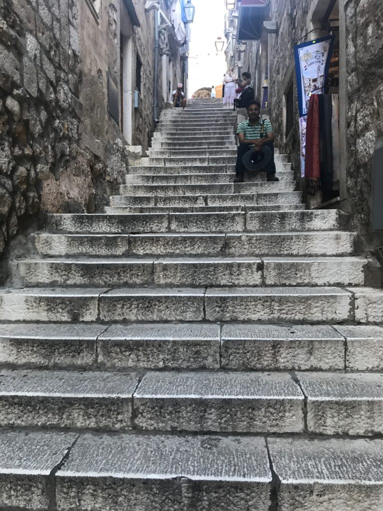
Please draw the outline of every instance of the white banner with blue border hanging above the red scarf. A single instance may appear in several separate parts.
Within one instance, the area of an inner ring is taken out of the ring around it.
[[[312,94],[323,94],[330,65],[334,36],[328,35],[294,47],[299,117],[307,115]]]

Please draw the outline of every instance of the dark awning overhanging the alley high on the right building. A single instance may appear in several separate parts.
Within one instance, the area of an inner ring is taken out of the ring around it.
[[[268,5],[269,0],[241,0],[237,28],[238,41],[260,39]]]

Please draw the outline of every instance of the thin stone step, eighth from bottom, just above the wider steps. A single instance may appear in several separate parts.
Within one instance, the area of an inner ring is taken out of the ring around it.
[[[296,192],[293,192],[296,193]],[[119,196],[118,196],[119,197]],[[195,197],[195,196],[193,196]],[[206,196],[208,197],[208,196]],[[246,196],[247,197],[247,196]],[[251,199],[250,199],[251,200]],[[285,211],[304,210],[304,204],[249,204],[249,205],[212,205],[212,206],[105,206],[108,215],[131,213],[227,213],[231,211]]]

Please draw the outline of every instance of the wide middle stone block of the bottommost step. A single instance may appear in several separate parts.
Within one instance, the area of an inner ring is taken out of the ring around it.
[[[56,475],[58,509],[268,511],[265,440],[176,435],[81,435]],[[97,498],[94,498],[97,495]]]

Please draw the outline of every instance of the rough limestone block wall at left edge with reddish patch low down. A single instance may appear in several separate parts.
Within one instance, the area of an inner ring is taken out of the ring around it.
[[[124,173],[118,130],[82,143],[78,17],[78,0],[0,0],[0,253],[40,211],[102,211]]]

